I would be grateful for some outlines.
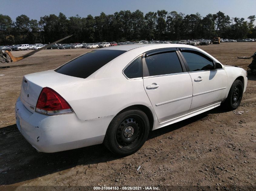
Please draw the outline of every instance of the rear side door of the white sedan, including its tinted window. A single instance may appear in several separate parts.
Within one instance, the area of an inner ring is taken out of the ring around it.
[[[145,54],[143,83],[158,122],[188,113],[192,101],[192,81],[175,48]]]

